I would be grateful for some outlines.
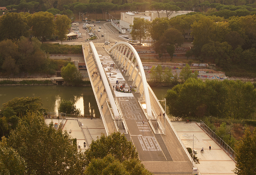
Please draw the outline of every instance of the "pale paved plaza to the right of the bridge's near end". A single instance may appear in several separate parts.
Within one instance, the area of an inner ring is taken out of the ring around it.
[[[233,175],[235,162],[200,127],[200,123],[171,122],[186,147],[193,148],[200,164],[196,164],[202,175]],[[211,150],[209,150],[211,146]],[[201,153],[201,149],[204,152]]]

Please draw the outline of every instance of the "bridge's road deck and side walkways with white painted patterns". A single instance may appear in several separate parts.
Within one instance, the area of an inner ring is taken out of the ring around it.
[[[109,78],[109,84],[111,87],[116,86],[116,80],[119,81],[119,86],[123,83],[126,83],[125,89],[129,89],[129,85],[132,84],[132,81],[128,81],[129,76],[125,76],[122,74],[122,69],[116,67],[116,62],[109,56],[109,54],[102,47],[96,47],[97,52],[99,54],[99,58],[102,62],[103,66],[107,66],[104,68],[106,75]],[[89,58],[91,56],[86,57],[86,61],[88,64],[88,74],[89,77],[92,75],[93,71],[95,71],[95,63],[94,60]],[[111,63],[114,63],[114,68],[111,68]],[[98,65],[98,66],[102,66]],[[136,72],[134,73],[136,74]],[[103,84],[99,81],[99,77],[91,77],[92,86],[96,91],[96,101],[99,99],[99,104],[101,106],[102,99],[106,96],[100,97],[101,89],[104,90]],[[139,83],[139,81],[137,81]],[[97,86],[99,84],[100,90],[98,92]],[[113,88],[112,88],[113,89]],[[142,91],[141,91],[142,92]],[[179,142],[175,132],[171,128],[171,125],[166,122],[166,135],[163,134],[154,134],[152,132],[151,126],[148,124],[148,120],[140,108],[140,105],[137,99],[140,97],[140,93],[122,93],[117,91],[112,91],[114,98],[117,98],[120,104],[120,109],[123,113],[123,117],[125,119],[126,125],[130,132],[130,135],[126,135],[127,139],[133,142],[136,146],[136,149],[139,153],[139,158],[145,167],[153,172],[154,174],[179,174],[179,175],[190,175],[192,174],[192,163],[189,160],[187,154],[182,148],[181,143]],[[106,97],[105,100],[106,101]],[[155,108],[156,112],[160,113],[161,108],[157,106],[156,99],[153,94],[150,94],[150,101],[153,108]],[[105,102],[106,103],[106,102]],[[104,105],[103,105],[104,106]],[[109,110],[108,108],[106,108]],[[105,109],[104,118],[106,122],[111,122],[112,124],[108,124],[109,128],[114,128],[114,122],[110,112]],[[103,107],[104,110],[104,107]],[[109,115],[105,117],[105,114]],[[102,116],[103,117],[103,116]],[[143,124],[142,121],[145,121]],[[161,122],[164,122],[164,119],[161,118]],[[110,127],[110,126],[111,127]],[[115,129],[112,129],[112,131]],[[109,130],[109,132],[111,132]]]

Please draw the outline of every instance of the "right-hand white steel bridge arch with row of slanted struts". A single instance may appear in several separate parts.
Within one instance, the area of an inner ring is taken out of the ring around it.
[[[129,56],[126,57],[129,51],[130,51]],[[125,54],[123,54],[124,52],[125,52]],[[137,74],[135,76],[134,82],[136,81],[136,79],[138,77],[138,74],[140,72],[141,80],[140,80],[140,83],[139,83],[139,85],[137,87],[137,91],[139,91],[139,86],[142,83],[143,84],[143,88],[144,88],[144,92],[143,93],[145,95],[147,115],[148,116],[152,116],[149,90],[148,90],[148,87],[147,87],[147,79],[146,79],[146,75],[145,75],[145,72],[144,72],[144,69],[143,69],[143,65],[142,65],[141,60],[140,60],[140,56],[138,55],[138,53],[135,50],[135,48],[131,44],[129,44],[129,43],[119,42],[119,43],[116,43],[115,45],[113,45],[109,49],[109,53],[111,53],[113,56],[115,55],[114,59],[116,59],[116,61],[119,61],[118,63],[121,64],[121,68],[122,67],[126,68],[128,60],[130,59],[131,53],[133,53],[133,56],[131,58],[131,63],[129,65],[129,67],[127,68],[127,70],[130,70],[131,65],[132,65],[132,61],[133,61],[134,58],[136,59],[136,61],[135,61],[135,64],[133,66],[133,70],[132,70],[132,72],[130,74],[129,81],[132,80],[132,75],[133,75],[133,72],[135,70],[135,66],[136,66],[136,64],[138,64],[139,70],[138,70],[138,72],[137,72]],[[124,56],[124,58],[123,58],[123,61],[122,61],[122,57],[123,56]],[[124,65],[124,62],[126,62],[125,65]],[[127,75],[129,75],[129,71],[127,71],[126,76]]]

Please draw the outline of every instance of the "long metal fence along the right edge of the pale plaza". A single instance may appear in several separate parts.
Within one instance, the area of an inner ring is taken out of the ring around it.
[[[202,120],[200,120],[200,127],[205,130],[217,143],[220,144],[221,147],[230,155],[230,157],[234,160],[236,157],[236,153],[226,142],[224,142],[219,136],[216,135],[213,130],[211,130]]]

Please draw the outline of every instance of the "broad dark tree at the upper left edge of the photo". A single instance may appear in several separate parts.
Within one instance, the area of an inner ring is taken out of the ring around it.
[[[28,15],[28,14],[26,14]],[[0,18],[0,39],[19,39],[29,36],[29,26],[24,13],[7,13]]]

